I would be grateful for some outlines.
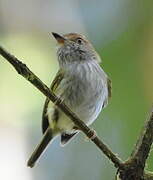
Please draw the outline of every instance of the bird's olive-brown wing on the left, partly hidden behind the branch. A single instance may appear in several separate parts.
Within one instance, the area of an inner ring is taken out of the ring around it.
[[[51,84],[51,87],[50,87],[51,91],[53,91],[54,93],[56,92],[56,89],[63,78],[64,78],[64,72],[62,70],[59,70],[58,73],[56,74],[55,79],[53,80]],[[49,126],[48,115],[47,115],[47,108],[48,108],[49,102],[50,102],[49,98],[46,98],[44,108],[43,108],[43,114],[42,114],[42,132],[43,133],[46,131],[46,129]],[[57,110],[54,112],[57,114]]]

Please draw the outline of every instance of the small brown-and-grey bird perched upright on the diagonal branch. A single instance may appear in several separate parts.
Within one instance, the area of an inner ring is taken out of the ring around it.
[[[111,81],[100,67],[100,57],[92,44],[76,33],[61,36],[52,33],[59,44],[59,71],[51,90],[87,125],[95,121],[111,96]],[[68,143],[79,128],[48,98],[42,117],[43,138],[31,155],[33,167],[46,146],[58,135],[61,145]]]

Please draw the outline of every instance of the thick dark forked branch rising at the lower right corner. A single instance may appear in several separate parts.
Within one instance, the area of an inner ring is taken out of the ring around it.
[[[122,180],[153,180],[153,173],[144,172],[146,160],[153,142],[153,109],[140,134],[133,153],[124,163],[124,169],[119,169]]]

